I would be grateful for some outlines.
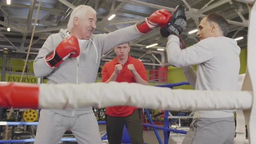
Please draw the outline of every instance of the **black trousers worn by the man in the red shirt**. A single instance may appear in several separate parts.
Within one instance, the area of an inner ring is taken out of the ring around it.
[[[106,127],[109,144],[121,144],[124,124],[131,138],[131,144],[144,144],[141,109],[135,109],[125,117],[106,116]]]

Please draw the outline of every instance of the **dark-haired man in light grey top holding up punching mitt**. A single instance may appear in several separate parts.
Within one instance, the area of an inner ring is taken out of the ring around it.
[[[175,32],[180,34],[182,30],[174,21],[161,29],[169,33],[168,62],[181,67],[196,90],[238,91],[240,47],[236,40],[225,37],[228,23],[223,16],[210,13],[204,17],[197,32],[200,42],[187,49],[180,49]],[[171,25],[174,31],[168,29]],[[197,65],[197,72],[190,65]],[[194,119],[182,144],[232,144],[234,136],[233,111],[194,111]]]

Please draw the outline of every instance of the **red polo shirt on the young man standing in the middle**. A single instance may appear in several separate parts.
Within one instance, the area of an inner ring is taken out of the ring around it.
[[[105,63],[102,69],[102,82],[106,82],[115,70],[115,65],[120,64],[117,56],[112,61]],[[135,70],[141,76],[142,79],[148,82],[146,69],[141,61],[128,55],[127,62],[123,65],[123,69],[118,74],[115,82],[136,82],[134,75],[127,68],[127,65],[133,64]],[[106,108],[106,114],[114,117],[125,117],[131,115],[136,107],[131,106],[114,106]]]

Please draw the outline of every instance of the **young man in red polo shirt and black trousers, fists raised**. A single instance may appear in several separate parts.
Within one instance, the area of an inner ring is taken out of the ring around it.
[[[105,63],[102,69],[102,82],[136,82],[148,85],[144,65],[129,55],[129,43],[115,47],[115,59]],[[121,144],[124,124],[132,144],[144,144],[142,118],[139,108],[114,106],[106,108],[107,136],[109,144]]]

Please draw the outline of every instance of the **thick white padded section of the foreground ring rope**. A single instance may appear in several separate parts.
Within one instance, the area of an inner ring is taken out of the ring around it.
[[[40,85],[40,108],[105,108],[131,105],[163,110],[249,109],[252,96],[241,91],[172,90],[126,82]]]

